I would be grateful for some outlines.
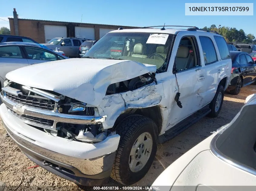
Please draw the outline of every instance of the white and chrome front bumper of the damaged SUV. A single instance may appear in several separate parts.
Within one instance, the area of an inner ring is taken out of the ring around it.
[[[114,160],[110,154],[114,154],[118,147],[119,135],[109,136],[104,141],[95,144],[83,143],[55,137],[27,125],[12,116],[5,104],[0,106],[0,116],[6,131],[25,154],[29,151],[53,164],[56,161],[68,165],[72,167],[71,170],[73,169],[75,176],[80,176],[82,173],[95,177],[104,172],[110,173]],[[31,154],[28,155],[31,156]],[[98,179],[97,176],[95,179]]]

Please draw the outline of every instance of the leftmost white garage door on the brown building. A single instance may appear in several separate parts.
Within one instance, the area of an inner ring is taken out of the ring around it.
[[[45,43],[55,37],[67,37],[67,27],[58,25],[45,25]]]

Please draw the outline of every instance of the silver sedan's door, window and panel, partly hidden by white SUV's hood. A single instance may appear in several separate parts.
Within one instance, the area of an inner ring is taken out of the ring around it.
[[[23,48],[29,65],[57,60],[57,55],[46,49],[35,46],[23,46]]]

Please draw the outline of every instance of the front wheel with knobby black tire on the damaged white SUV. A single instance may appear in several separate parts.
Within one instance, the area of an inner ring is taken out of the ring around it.
[[[145,176],[157,151],[157,126],[145,116],[131,115],[116,127],[120,141],[111,178],[131,185]]]

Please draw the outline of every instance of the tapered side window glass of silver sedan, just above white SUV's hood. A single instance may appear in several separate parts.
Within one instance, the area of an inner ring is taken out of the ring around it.
[[[45,49],[25,46],[25,50],[28,55],[28,59],[37,60],[57,60],[55,54],[45,51]]]

